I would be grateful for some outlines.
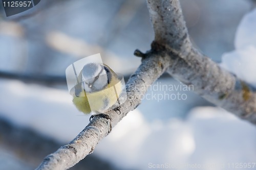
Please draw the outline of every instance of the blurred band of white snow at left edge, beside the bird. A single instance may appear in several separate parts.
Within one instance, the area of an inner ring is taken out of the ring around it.
[[[1,117],[55,140],[68,142],[89,123],[73,106],[68,90],[1,80],[0,93]]]

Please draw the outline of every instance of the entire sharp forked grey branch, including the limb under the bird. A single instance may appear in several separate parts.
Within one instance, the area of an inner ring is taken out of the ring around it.
[[[152,51],[142,57],[142,63],[126,84],[127,101],[120,114],[107,112],[112,119],[96,116],[69,144],[48,155],[37,169],[67,169],[92,153],[96,144],[129,111],[141,102],[148,85],[153,84],[165,70],[208,101],[256,122],[256,96],[252,87],[221,69],[215,62],[192,46],[178,0],[147,0],[155,30]]]

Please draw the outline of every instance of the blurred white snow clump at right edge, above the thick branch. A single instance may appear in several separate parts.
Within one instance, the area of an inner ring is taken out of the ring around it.
[[[223,54],[223,68],[256,87],[256,9],[246,14],[238,27],[236,50]]]

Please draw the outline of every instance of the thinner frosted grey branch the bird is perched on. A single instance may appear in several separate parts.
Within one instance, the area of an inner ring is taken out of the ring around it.
[[[140,104],[141,96],[146,93],[145,87],[153,84],[169,67],[169,63],[168,56],[163,56],[161,53],[147,53],[126,84],[127,100],[120,106],[120,113],[114,110],[106,112],[111,122],[103,117],[94,117],[74,140],[48,155],[37,169],[67,169],[91,154],[96,144],[109,134],[111,126],[114,127],[129,111]]]

